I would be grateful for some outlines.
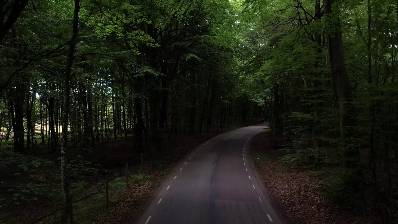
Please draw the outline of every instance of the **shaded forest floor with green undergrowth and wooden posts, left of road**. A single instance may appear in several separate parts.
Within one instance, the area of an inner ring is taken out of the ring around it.
[[[164,178],[186,153],[222,132],[240,127],[242,126],[231,126],[223,130],[215,128],[213,133],[197,133],[192,136],[173,134],[170,140],[162,142],[166,147],[161,159],[154,161],[154,166],[152,161],[141,165],[140,156],[132,155],[131,139],[99,143],[90,149],[70,149],[72,201],[89,195],[73,204],[74,222],[119,224],[139,218]],[[51,214],[62,207],[59,156],[56,152],[51,155],[43,153],[39,156],[17,157],[14,158],[15,161],[6,164],[7,169],[1,169],[0,224],[47,224],[60,218],[61,211]],[[129,162],[127,188],[126,162]],[[21,171],[21,164],[29,169]],[[35,164],[41,165],[35,167]],[[109,177],[109,208],[105,206],[106,175]],[[48,214],[51,215],[46,216]]]

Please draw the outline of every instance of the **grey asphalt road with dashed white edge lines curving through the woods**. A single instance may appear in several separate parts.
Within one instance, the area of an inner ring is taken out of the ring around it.
[[[282,224],[248,157],[267,124],[199,145],[172,171],[137,224]]]

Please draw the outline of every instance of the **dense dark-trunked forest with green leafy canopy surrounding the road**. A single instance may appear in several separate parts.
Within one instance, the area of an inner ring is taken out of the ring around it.
[[[90,195],[74,215],[92,223],[109,170],[121,191],[128,161],[135,181],[150,179],[142,172],[179,153],[171,142],[258,118],[283,163],[326,177],[328,200],[397,222],[398,1],[0,0],[0,10],[0,223],[66,220],[70,195]]]

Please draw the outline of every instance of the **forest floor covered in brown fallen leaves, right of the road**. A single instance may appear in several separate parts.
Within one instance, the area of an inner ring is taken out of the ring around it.
[[[280,144],[280,142],[278,143]],[[278,145],[277,144],[277,145]],[[322,191],[323,168],[297,169],[281,163],[283,150],[274,149],[271,132],[264,130],[252,139],[250,155],[263,180],[268,198],[286,224],[374,224],[375,217],[358,216],[328,200]],[[278,147],[278,146],[277,146]],[[328,169],[328,168],[325,168]]]

